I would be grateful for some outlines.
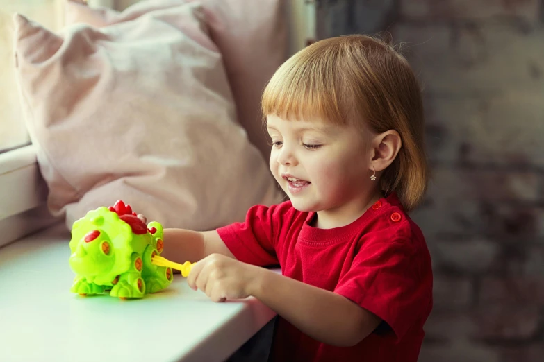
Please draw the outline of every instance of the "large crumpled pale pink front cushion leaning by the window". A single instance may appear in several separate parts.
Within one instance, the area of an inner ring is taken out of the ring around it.
[[[69,227],[117,199],[165,227],[195,230],[278,202],[201,19],[199,4],[179,1],[60,35],[15,18],[28,130],[51,212]]]

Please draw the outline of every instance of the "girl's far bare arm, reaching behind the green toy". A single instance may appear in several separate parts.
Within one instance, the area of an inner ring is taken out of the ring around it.
[[[165,229],[163,237],[165,248],[161,255],[179,264],[186,261],[194,263],[214,253],[236,259],[215,230],[195,232],[186,229]]]

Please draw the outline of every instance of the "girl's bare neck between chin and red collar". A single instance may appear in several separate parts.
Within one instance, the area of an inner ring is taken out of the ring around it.
[[[360,218],[374,202],[382,197],[381,191],[373,190],[361,198],[359,202],[349,202],[349,204],[334,209],[318,211],[311,225],[319,229],[332,229],[349,225]]]

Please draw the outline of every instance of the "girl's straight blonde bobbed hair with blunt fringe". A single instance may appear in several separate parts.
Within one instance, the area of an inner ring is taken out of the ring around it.
[[[302,49],[267,83],[261,110],[288,120],[365,124],[377,134],[396,130],[402,147],[379,187],[395,191],[406,211],[425,196],[429,166],[421,91],[409,63],[388,42],[347,35]]]

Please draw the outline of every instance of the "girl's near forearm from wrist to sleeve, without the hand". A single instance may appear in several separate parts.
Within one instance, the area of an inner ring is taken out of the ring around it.
[[[249,294],[308,336],[329,345],[356,345],[381,319],[347,298],[258,268]]]

